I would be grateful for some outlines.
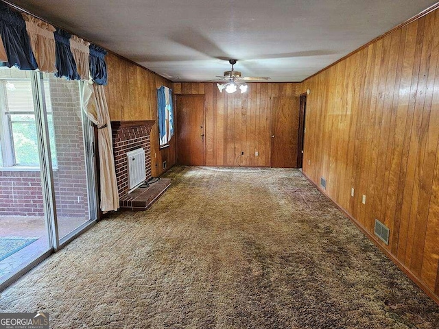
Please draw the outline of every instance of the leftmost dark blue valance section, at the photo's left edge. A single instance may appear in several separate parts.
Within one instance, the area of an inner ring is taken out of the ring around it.
[[[16,66],[21,70],[38,69],[23,16],[4,3],[0,3],[0,35],[8,56],[6,66]]]

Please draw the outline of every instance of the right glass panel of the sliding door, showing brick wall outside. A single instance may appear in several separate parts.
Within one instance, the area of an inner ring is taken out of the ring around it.
[[[60,241],[95,219],[89,202],[87,154],[80,82],[44,74],[43,86],[54,171],[56,218]]]

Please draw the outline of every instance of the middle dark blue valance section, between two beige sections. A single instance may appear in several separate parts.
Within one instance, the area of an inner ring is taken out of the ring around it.
[[[81,80],[78,69],[76,68],[75,59],[73,58],[73,53],[71,53],[70,50],[71,34],[57,28],[54,35],[56,45],[55,66],[58,70],[55,76],[66,77],[67,80]]]

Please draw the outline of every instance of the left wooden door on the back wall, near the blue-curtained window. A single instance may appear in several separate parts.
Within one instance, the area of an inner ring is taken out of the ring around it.
[[[177,163],[204,166],[204,95],[177,95]]]

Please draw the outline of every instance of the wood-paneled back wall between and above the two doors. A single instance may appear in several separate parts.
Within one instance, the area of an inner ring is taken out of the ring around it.
[[[174,83],[174,93],[204,95],[206,165],[270,167],[271,99],[295,96],[296,85],[252,83],[244,94],[228,94],[219,93],[216,83],[183,82]]]

